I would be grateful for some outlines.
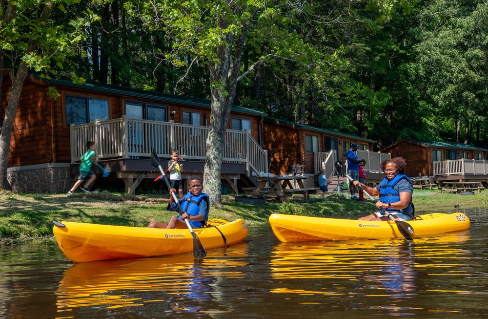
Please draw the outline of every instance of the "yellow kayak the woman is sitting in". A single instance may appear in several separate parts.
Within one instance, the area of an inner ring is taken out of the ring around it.
[[[469,228],[464,213],[432,213],[407,221],[415,236],[464,231]],[[403,238],[394,221],[364,221],[271,214],[269,224],[281,242],[345,240],[356,238]]]

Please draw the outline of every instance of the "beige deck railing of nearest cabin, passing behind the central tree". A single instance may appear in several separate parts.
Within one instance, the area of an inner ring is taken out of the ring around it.
[[[95,121],[70,125],[71,163],[80,161],[86,142],[95,141],[97,159],[148,158],[152,149],[169,158],[178,149],[187,160],[205,159],[208,127],[170,122],[129,119]],[[247,172],[267,172],[267,152],[249,131],[227,129],[223,147],[224,162],[245,163]]]

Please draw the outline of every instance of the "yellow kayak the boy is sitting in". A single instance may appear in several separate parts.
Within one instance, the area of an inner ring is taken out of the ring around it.
[[[210,219],[207,224],[209,227],[193,229],[204,249],[226,246],[224,237],[227,245],[231,245],[243,241],[247,235],[243,219],[232,222]],[[193,236],[187,229],[62,221],[54,225],[53,233],[63,254],[73,262],[173,255],[193,250]]]

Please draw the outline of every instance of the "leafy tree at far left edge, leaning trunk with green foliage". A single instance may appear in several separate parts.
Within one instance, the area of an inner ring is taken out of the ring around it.
[[[76,0],[7,1],[1,6],[0,56],[1,75],[8,70],[11,85],[0,131],[0,189],[8,188],[6,174],[10,139],[19,106],[20,92],[29,70],[49,73],[52,65],[62,66],[65,58],[74,52],[74,43],[83,38],[83,26],[90,17],[83,12],[68,25],[51,20],[53,10],[67,13],[64,5]],[[55,92],[52,92],[55,94]]]

